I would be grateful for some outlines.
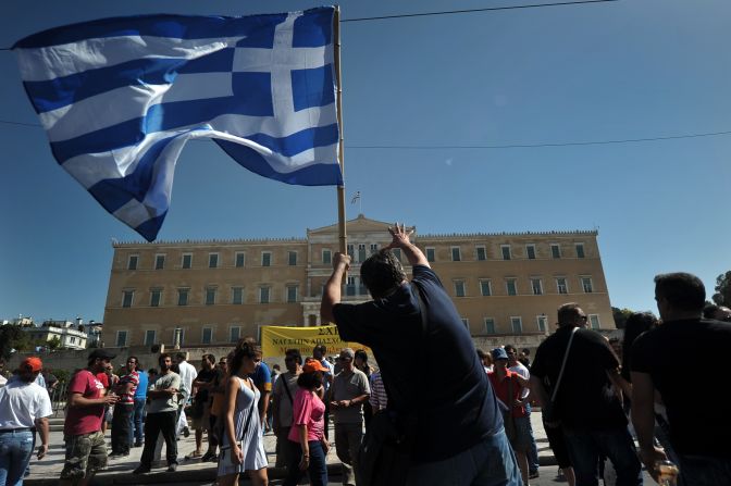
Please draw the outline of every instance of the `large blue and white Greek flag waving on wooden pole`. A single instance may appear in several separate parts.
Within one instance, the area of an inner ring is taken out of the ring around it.
[[[104,18],[13,50],[58,163],[152,241],[190,139],[283,183],[343,184],[333,16]]]

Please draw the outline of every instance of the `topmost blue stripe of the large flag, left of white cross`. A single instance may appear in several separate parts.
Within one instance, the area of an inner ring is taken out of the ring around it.
[[[90,38],[128,36],[199,40],[210,38],[211,33],[220,37],[235,37],[244,33],[247,35],[247,46],[271,48],[274,27],[284,22],[286,16],[277,13],[241,17],[168,14],[111,17],[44,30],[18,40],[13,49],[39,49]]]

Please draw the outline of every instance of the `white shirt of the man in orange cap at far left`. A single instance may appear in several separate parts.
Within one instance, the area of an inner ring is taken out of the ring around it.
[[[11,379],[0,388],[0,429],[35,427],[52,413],[48,391],[35,383]]]

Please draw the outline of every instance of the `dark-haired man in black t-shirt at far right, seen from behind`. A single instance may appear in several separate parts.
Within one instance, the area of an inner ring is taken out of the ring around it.
[[[653,444],[659,394],[679,461],[678,484],[731,484],[731,415],[719,409],[716,397],[728,366],[731,324],[702,319],[706,289],[689,273],[656,276],[655,300],[662,324],[641,335],[630,353],[632,423],[641,459],[653,475],[655,462],[666,459]],[[695,364],[679,364],[678,357],[689,352],[702,358]]]

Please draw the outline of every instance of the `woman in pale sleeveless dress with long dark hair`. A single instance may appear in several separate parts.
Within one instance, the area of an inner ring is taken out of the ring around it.
[[[219,458],[219,485],[237,486],[246,472],[255,486],[267,486],[267,453],[257,402],[260,392],[249,375],[253,373],[255,349],[248,342],[236,348],[228,363],[224,399],[223,444]]]

